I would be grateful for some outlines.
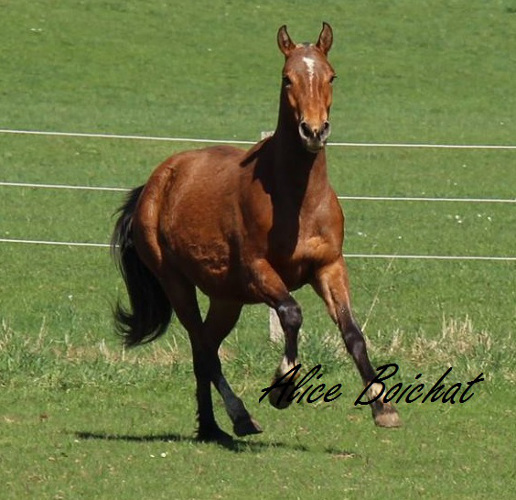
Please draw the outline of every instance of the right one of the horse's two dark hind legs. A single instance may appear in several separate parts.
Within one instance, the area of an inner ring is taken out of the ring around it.
[[[207,353],[211,381],[224,401],[226,412],[233,422],[233,432],[237,436],[246,436],[258,434],[262,429],[224,377],[218,354],[222,341],[235,326],[241,310],[242,304],[212,299],[204,322],[202,341]]]

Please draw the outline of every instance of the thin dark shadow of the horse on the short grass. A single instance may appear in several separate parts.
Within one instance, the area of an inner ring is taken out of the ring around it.
[[[78,431],[73,433],[76,439],[83,440],[101,440],[101,441],[125,441],[133,443],[151,443],[151,442],[163,442],[163,443],[194,443],[203,444],[202,441],[197,439],[195,436],[185,436],[181,434],[150,434],[150,435],[134,435],[134,434],[108,434],[106,432],[84,432]],[[313,451],[305,445],[296,443],[284,443],[282,441],[244,441],[243,439],[230,439],[224,441],[216,441],[218,444],[226,450],[234,453],[252,452],[258,453],[260,451],[268,450],[270,448],[283,448],[292,451]],[[326,448],[326,453],[335,456],[346,456],[356,457],[357,455],[353,452],[337,450],[334,448]]]

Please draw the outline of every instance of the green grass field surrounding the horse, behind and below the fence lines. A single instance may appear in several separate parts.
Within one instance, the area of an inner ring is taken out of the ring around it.
[[[278,27],[332,24],[333,141],[514,145],[514,0],[0,0],[0,129],[249,140],[272,130]],[[132,187],[189,143],[0,133],[0,181]],[[338,194],[514,199],[514,150],[331,147]],[[0,238],[105,243],[122,193],[0,186]],[[349,254],[516,256],[514,204],[345,201]],[[301,361],[331,404],[258,403],[280,358],[248,308],[225,372],[264,428],[194,439],[185,332],[124,352],[106,248],[0,242],[0,499],[513,498],[514,261],[350,258],[355,315],[396,381],[483,373],[464,404],[398,405],[374,427],[306,289]],[[204,304],[205,305],[205,304]],[[215,397],[222,426],[230,429]]]

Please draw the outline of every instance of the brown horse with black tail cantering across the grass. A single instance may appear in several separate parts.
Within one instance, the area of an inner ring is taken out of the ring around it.
[[[121,208],[113,251],[131,310],[118,304],[118,328],[126,345],[142,344],[162,335],[175,312],[192,345],[203,440],[230,438],[215,421],[211,383],[237,436],[261,432],[218,356],[244,304],[265,303],[278,313],[285,354],[274,380],[297,363],[302,314],[290,291],[305,284],[324,300],[364,384],[376,376],[351,312],[344,217],[326,170],[332,42],[326,23],[316,44],[294,43],[282,26],[278,45],[285,65],[274,135],[249,151],[217,146],[176,154]],[[210,299],[204,320],[196,287]],[[374,397],[379,385],[371,387]],[[289,404],[281,392],[269,394],[277,408]],[[378,425],[399,425],[389,404],[377,400],[371,407]]]

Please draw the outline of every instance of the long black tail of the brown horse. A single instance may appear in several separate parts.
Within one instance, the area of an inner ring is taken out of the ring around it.
[[[119,210],[111,239],[111,251],[131,304],[127,310],[118,301],[114,311],[117,331],[128,347],[151,342],[163,335],[172,317],[172,307],[163,288],[141,261],[133,244],[133,214],[143,188],[140,186],[129,193]]]

